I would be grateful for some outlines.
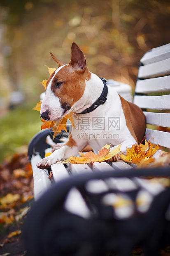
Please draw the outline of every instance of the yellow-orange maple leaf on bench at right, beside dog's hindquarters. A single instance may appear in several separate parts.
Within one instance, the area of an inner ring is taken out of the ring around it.
[[[145,145],[142,145],[141,143],[138,145],[137,143],[135,145],[132,145],[132,147],[129,149],[127,148],[127,155],[118,154],[118,156],[125,162],[133,163],[133,164],[140,164],[140,162],[143,160],[145,164],[149,164],[152,161],[152,156],[156,153],[156,151],[159,149],[159,146],[156,145],[153,148],[153,144],[151,144],[150,140],[147,142],[145,139]],[[145,159],[145,160],[144,160]]]

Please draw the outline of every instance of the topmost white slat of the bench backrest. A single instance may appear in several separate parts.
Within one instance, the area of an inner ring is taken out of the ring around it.
[[[140,62],[146,65],[168,58],[170,58],[170,43],[153,48],[149,52],[145,53]]]

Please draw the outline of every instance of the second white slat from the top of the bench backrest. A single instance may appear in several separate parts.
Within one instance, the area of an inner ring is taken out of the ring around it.
[[[154,78],[170,74],[170,58],[160,62],[140,66],[138,78]]]

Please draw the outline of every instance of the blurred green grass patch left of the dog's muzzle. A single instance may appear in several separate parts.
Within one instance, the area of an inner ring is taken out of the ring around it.
[[[32,110],[36,103],[24,104],[10,110],[0,124],[0,162],[7,154],[13,155],[21,145],[41,130],[40,112]]]

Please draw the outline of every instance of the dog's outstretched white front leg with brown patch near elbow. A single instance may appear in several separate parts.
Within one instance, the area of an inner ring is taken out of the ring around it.
[[[69,135],[69,140],[60,149],[55,150],[50,156],[44,157],[37,164],[40,169],[48,169],[51,164],[65,160],[70,156],[77,156],[79,151],[86,146],[85,141],[78,140],[77,142]]]

